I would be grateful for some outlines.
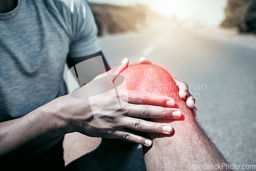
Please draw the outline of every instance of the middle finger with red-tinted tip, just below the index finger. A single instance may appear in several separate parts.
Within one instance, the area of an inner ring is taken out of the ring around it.
[[[126,116],[131,117],[156,119],[179,119],[181,117],[181,111],[176,108],[138,104],[130,104],[127,105],[126,108],[128,108]]]

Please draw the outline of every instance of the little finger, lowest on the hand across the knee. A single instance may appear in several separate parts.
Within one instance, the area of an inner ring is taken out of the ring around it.
[[[133,133],[119,131],[116,134],[117,134],[118,138],[121,138],[121,139],[126,140],[126,141],[139,143],[139,144],[144,145],[144,146],[151,146],[152,145],[152,140],[151,139],[144,138],[144,137],[135,135]]]

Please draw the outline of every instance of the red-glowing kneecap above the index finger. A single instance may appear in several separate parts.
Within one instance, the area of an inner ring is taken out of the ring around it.
[[[178,98],[178,87],[172,76],[163,68],[149,64],[135,64],[126,68],[124,76],[129,90]],[[123,84],[120,87],[124,87]]]

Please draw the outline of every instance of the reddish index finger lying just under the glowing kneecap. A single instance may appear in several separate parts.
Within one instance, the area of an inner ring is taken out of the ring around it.
[[[174,106],[175,101],[173,98],[161,96],[151,93],[142,93],[132,90],[127,90],[128,102],[133,104],[149,104],[159,106]]]

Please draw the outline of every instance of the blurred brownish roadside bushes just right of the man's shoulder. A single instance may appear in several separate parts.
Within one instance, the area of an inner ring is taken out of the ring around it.
[[[153,19],[169,20],[142,5],[131,7],[109,4],[89,5],[98,26],[99,35],[136,31],[147,27]]]

